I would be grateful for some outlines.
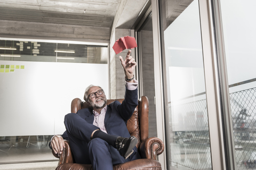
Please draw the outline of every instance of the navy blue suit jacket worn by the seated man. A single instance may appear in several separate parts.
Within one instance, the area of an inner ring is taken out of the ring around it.
[[[135,90],[128,90],[125,88],[125,98],[121,103],[114,101],[107,106],[107,112],[105,115],[105,128],[108,134],[118,135],[121,137],[131,137],[129,131],[126,128],[126,123],[132,116],[135,107],[138,105],[138,88]],[[77,112],[87,123],[93,124],[94,115],[92,108],[84,108]],[[62,138],[68,140],[66,131],[62,134]],[[85,139],[90,141],[90,137]],[[134,151],[138,152],[134,147]]]

